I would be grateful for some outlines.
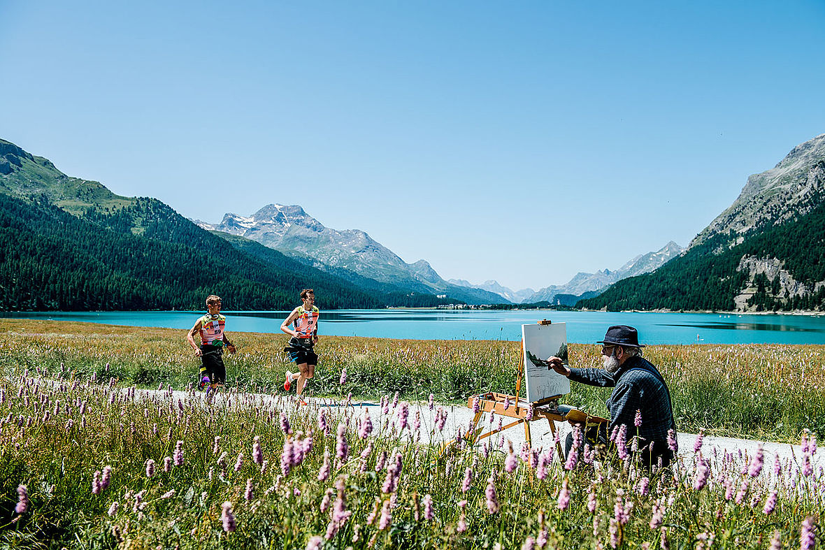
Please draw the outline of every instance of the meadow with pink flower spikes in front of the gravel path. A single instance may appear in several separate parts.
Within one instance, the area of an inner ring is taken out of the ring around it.
[[[45,374],[12,368],[0,379],[0,548],[823,542],[825,476],[807,435],[801,454],[775,463],[697,446],[653,473],[588,447],[560,463],[553,449],[495,438],[459,440],[440,458],[438,444],[417,443],[428,437],[403,401],[382,400],[370,418],[345,400],[295,408],[293,397],[230,388],[210,403]],[[454,437],[438,426],[436,442]]]

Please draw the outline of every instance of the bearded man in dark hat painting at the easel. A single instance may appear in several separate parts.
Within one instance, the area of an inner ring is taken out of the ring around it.
[[[604,369],[569,369],[558,357],[550,357],[547,364],[575,382],[614,388],[606,403],[610,423],[598,439],[605,443],[609,433],[611,442],[616,443],[625,425],[625,444],[630,448],[633,438],[638,437],[638,456],[648,468],[660,460],[667,466],[675,456],[676,421],[662,374],[642,357],[644,346],[639,344],[634,327],[610,327],[605,339],[597,343],[603,345]],[[568,449],[572,442],[572,436],[568,437]]]

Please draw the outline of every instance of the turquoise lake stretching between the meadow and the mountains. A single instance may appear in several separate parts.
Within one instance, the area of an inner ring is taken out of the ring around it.
[[[224,312],[226,329],[274,332],[289,312]],[[188,330],[199,312],[0,313],[0,317],[99,322]],[[416,340],[521,340],[521,325],[547,318],[566,322],[568,341],[601,340],[610,325],[631,325],[645,344],[825,344],[825,316],[728,313],[606,313],[477,310],[323,311],[320,335]],[[181,334],[181,337],[182,334]]]

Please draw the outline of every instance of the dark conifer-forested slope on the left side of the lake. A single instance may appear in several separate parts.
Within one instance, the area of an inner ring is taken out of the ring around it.
[[[227,309],[289,309],[308,287],[328,309],[443,302],[358,289],[275,251],[262,260],[153,199],[78,218],[45,195],[0,195],[0,242],[5,311],[201,309],[207,294]]]

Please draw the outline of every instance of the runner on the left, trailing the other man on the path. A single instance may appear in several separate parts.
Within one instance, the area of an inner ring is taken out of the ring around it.
[[[235,346],[229,341],[224,332],[226,317],[220,314],[220,297],[211,294],[206,297],[206,313],[195,322],[191,331],[186,333],[186,341],[195,350],[195,356],[200,357],[200,389],[209,393],[219,384],[226,382],[226,367],[224,367],[224,346],[229,353],[235,353]],[[195,342],[195,336],[200,335],[200,346]]]

